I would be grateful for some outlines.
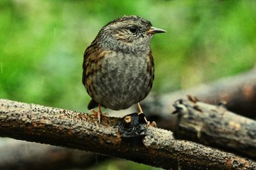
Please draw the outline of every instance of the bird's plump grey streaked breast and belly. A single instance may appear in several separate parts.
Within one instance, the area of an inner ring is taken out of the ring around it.
[[[97,84],[95,101],[112,110],[121,110],[144,99],[152,87],[151,63],[147,53],[106,53],[93,77]]]

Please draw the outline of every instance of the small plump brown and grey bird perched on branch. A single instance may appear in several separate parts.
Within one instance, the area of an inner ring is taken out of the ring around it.
[[[156,33],[145,18],[130,15],[112,20],[97,34],[84,52],[83,85],[92,97],[88,110],[98,117],[101,106],[125,110],[133,104],[143,113],[140,101],[148,96],[154,81],[154,59],[150,41]],[[98,106],[98,111],[93,108]]]

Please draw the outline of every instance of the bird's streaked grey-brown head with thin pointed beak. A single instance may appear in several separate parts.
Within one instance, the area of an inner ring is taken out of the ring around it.
[[[161,32],[166,31],[152,27],[144,18],[132,15],[109,22],[100,30],[97,39],[101,46],[109,50],[136,52],[149,50],[153,34]]]

